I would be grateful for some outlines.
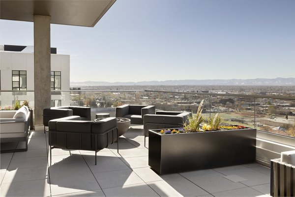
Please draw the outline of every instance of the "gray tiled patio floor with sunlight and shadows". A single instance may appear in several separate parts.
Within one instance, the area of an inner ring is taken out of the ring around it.
[[[93,151],[53,149],[51,164],[48,152],[42,130],[32,131],[27,152],[1,153],[0,195],[269,196],[270,169],[256,163],[156,174],[148,166],[143,125],[131,125],[119,138],[119,154],[117,144],[99,151],[96,166]]]

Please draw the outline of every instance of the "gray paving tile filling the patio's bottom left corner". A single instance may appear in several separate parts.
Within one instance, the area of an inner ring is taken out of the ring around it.
[[[50,197],[47,179],[5,183],[0,189],[1,197]]]

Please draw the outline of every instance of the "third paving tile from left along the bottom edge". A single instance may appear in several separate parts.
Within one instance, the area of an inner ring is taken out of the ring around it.
[[[103,189],[107,197],[159,197],[147,184]]]

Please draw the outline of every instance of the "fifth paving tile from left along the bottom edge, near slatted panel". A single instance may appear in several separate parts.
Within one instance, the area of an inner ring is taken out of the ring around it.
[[[249,187],[213,193],[212,195],[214,197],[264,197],[263,194]]]

